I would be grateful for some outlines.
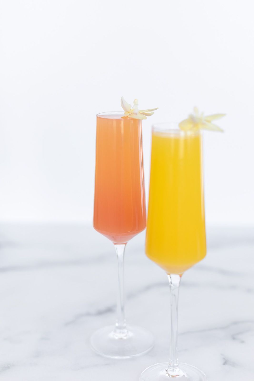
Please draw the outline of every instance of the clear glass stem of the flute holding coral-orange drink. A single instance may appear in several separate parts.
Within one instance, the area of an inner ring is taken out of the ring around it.
[[[127,333],[125,322],[125,303],[124,303],[124,274],[123,263],[126,243],[115,245],[117,253],[117,321],[115,323],[115,333],[120,337]]]

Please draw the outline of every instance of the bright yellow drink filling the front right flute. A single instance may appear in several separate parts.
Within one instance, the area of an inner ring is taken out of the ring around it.
[[[168,274],[206,255],[200,133],[153,132],[146,254]]]

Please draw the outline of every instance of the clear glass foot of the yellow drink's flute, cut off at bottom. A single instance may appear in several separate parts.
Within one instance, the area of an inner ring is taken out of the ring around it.
[[[177,379],[177,381],[207,381],[205,374],[193,365],[179,363],[177,371],[167,370],[168,363],[152,365],[146,368],[139,378],[139,381],[169,381],[169,379]]]

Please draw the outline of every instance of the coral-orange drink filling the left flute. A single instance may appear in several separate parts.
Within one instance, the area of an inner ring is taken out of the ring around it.
[[[97,116],[93,225],[114,243],[145,229],[141,120]]]

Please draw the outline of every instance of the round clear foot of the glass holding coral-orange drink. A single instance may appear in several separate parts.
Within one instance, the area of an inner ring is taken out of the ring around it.
[[[153,335],[144,328],[133,325],[121,331],[116,331],[114,325],[109,325],[93,333],[91,346],[102,356],[124,359],[150,351],[153,347]]]

